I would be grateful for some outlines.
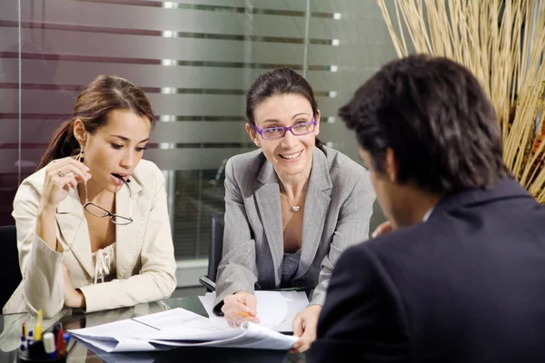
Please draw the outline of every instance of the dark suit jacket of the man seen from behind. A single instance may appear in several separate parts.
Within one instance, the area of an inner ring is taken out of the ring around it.
[[[545,208],[506,178],[346,250],[307,361],[545,361]]]

